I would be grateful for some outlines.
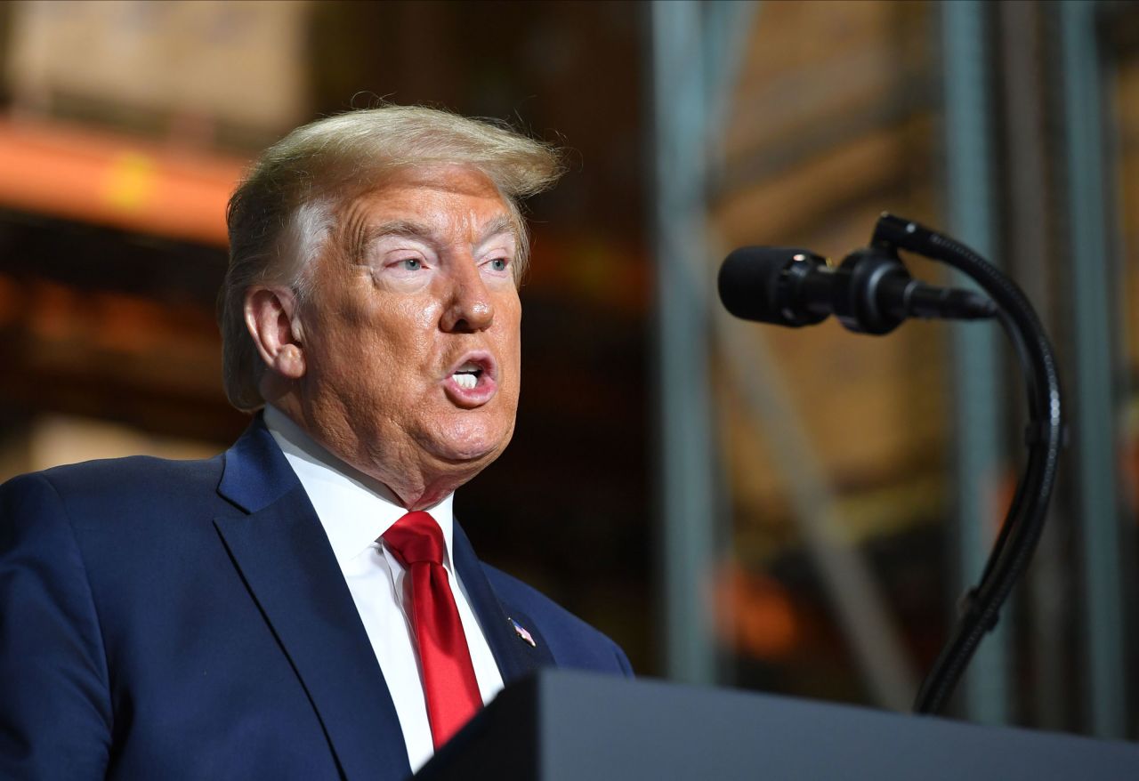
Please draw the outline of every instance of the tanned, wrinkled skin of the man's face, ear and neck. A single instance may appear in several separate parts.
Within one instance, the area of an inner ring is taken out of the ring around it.
[[[246,296],[265,400],[409,510],[474,477],[514,433],[511,225],[481,172],[400,170],[343,209],[308,301],[272,286]],[[486,378],[465,393],[451,372],[472,355]]]

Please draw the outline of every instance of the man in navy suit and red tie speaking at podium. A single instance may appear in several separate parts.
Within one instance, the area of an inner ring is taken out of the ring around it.
[[[0,488],[0,778],[401,779],[535,667],[630,674],[451,518],[514,430],[517,199],[558,173],[424,108],[265,151],[219,299],[246,434]]]

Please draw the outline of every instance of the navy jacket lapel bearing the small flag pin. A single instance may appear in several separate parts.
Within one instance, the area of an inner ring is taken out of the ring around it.
[[[538,626],[525,614],[513,610],[499,601],[483,572],[470,541],[458,523],[454,524],[452,551],[456,572],[467,592],[470,606],[478,617],[486,636],[486,644],[494,655],[502,682],[510,684],[526,677],[539,667],[552,667],[554,657],[538,631]],[[510,619],[525,627],[534,639],[534,646],[523,640]]]

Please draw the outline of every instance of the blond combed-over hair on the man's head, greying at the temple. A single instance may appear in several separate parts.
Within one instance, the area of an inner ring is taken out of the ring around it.
[[[509,128],[419,106],[347,112],[297,128],[269,147],[229,200],[229,270],[218,296],[226,395],[239,410],[264,405],[264,363],[245,324],[245,296],[257,285],[311,294],[311,270],[337,215],[394,168],[469,165],[498,188],[518,239],[515,279],[528,260],[519,200],[562,175],[554,147]]]

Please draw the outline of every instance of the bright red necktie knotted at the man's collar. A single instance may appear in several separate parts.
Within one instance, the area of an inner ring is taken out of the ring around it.
[[[409,512],[384,533],[384,542],[411,578],[411,624],[437,749],[483,705],[443,568],[443,531],[427,512]]]

